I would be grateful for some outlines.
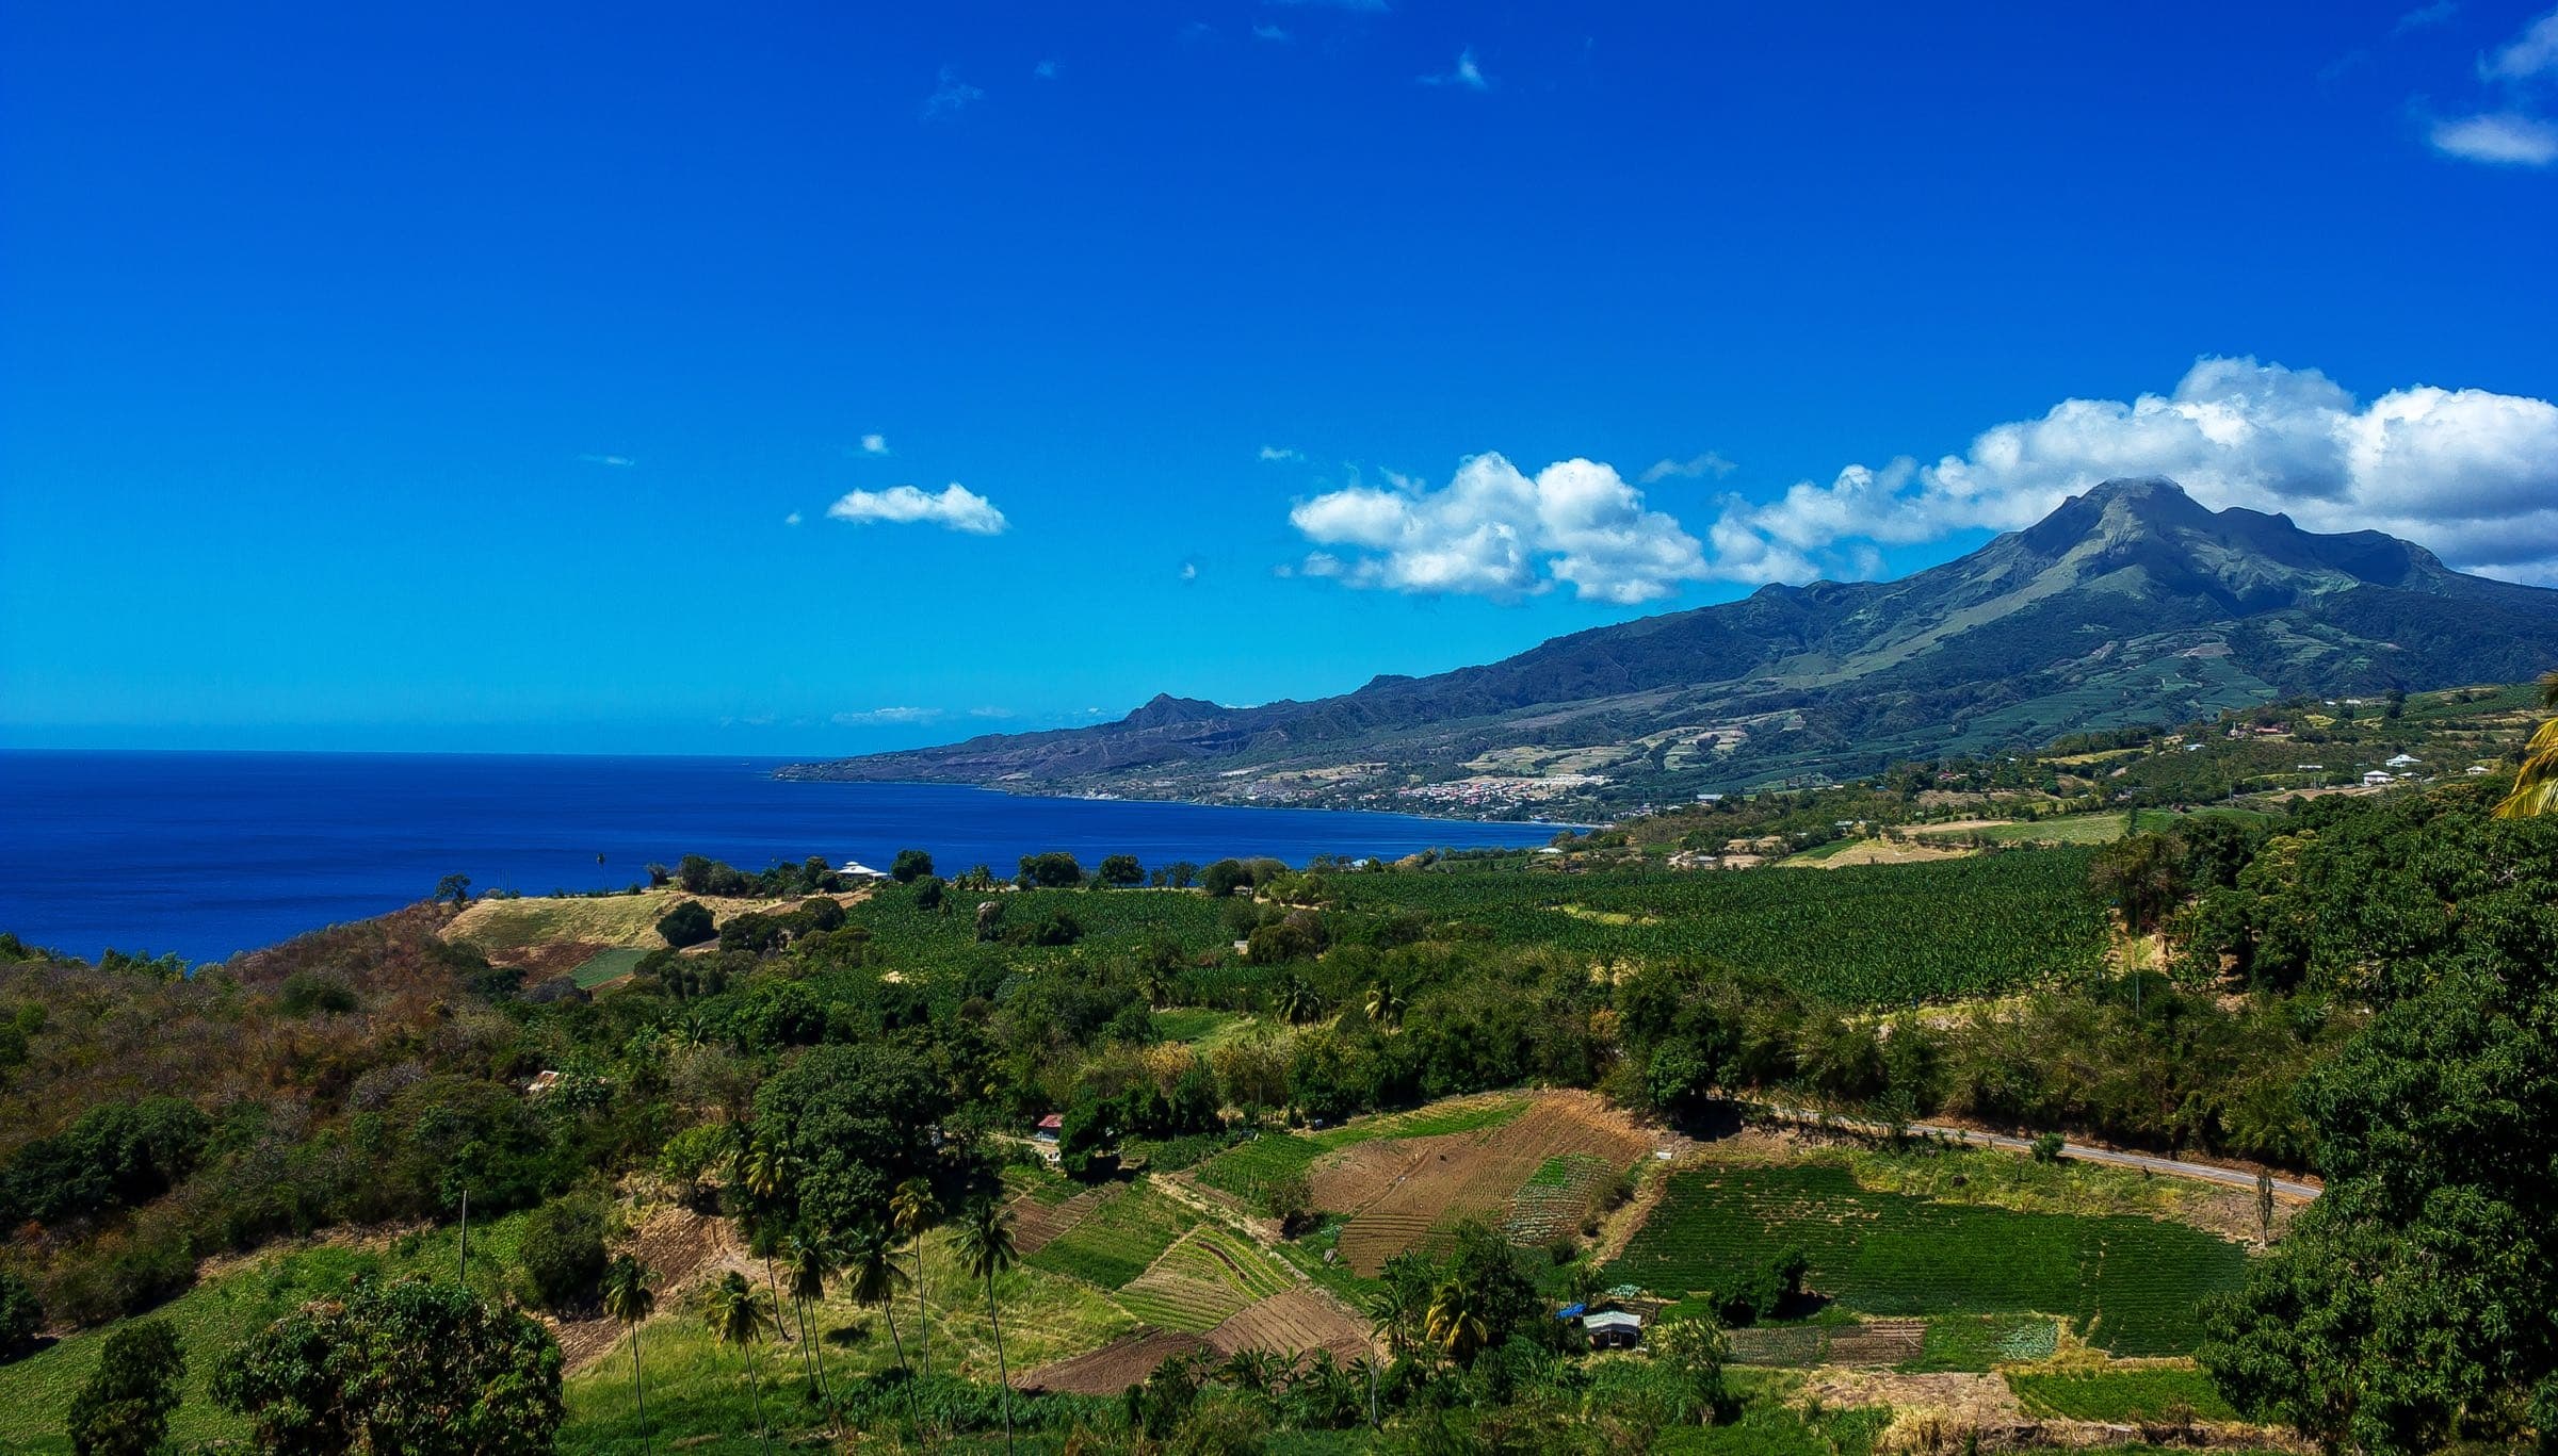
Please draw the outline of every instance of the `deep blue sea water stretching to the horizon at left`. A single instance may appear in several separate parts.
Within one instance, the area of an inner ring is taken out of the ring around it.
[[[1535,846],[1553,825],[1409,815],[1033,800],[936,784],[806,784],[765,759],[486,754],[0,754],[0,930],[74,955],[220,960],[425,899],[604,889],[650,861],[742,868],[826,856],[1010,874],[1036,851],[1085,866]],[[604,856],[599,863],[596,856]]]

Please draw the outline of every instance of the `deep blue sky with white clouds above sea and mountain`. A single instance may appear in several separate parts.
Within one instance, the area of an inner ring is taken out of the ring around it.
[[[2558,580],[2535,5],[217,10],[0,13],[0,743],[1307,697],[2118,467]]]

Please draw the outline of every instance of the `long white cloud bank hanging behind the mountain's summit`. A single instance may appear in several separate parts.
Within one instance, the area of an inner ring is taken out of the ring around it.
[[[1709,531],[1714,575],[1803,580],[1849,542],[2018,529],[2118,475],[2167,475],[2213,508],[2389,531],[2456,567],[2558,582],[2558,406],[2435,386],[2358,404],[2318,370],[2254,358],[2195,360],[2164,396],[2064,398],[1934,465],[1849,465],[1829,485],[1729,501]]]

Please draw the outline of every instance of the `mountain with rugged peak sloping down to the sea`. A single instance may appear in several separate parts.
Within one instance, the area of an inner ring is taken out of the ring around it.
[[[2287,516],[2108,480],[1895,582],[1770,585],[1315,702],[1159,695],[785,777],[1366,807],[1604,810],[2223,708],[2517,682],[2558,664],[2558,590]]]

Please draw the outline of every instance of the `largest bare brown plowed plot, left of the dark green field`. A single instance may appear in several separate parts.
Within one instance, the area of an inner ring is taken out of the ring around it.
[[[1317,1208],[1346,1208],[1340,1257],[1361,1275],[1461,1218],[1496,1221],[1550,1157],[1627,1167],[1670,1142],[1583,1091],[1535,1093],[1502,1126],[1346,1147],[1307,1170]]]

